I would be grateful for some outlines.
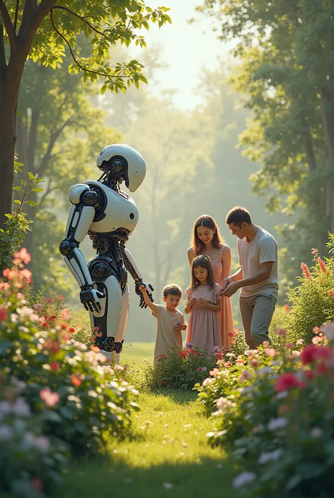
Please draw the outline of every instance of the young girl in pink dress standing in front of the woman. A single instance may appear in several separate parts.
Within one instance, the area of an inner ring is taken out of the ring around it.
[[[191,284],[186,289],[188,303],[185,313],[191,313],[187,343],[212,352],[222,346],[218,313],[221,310],[221,287],[215,283],[213,268],[208,256],[197,256],[191,264]]]

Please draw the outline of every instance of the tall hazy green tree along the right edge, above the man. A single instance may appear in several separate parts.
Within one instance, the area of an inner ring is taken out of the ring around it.
[[[334,2],[208,0],[198,10],[219,21],[220,39],[238,37],[234,82],[253,112],[241,143],[261,162],[255,192],[298,215],[282,227],[295,272],[334,228]]]

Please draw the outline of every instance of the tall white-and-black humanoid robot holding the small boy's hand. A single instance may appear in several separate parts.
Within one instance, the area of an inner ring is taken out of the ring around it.
[[[134,258],[125,247],[138,222],[137,206],[120,190],[124,181],[130,192],[135,192],[145,178],[146,165],[137,150],[123,144],[105,147],[98,154],[96,164],[103,171],[98,180],[78,183],[71,188],[72,208],[66,238],[59,250],[81,287],[80,300],[89,310],[91,326],[98,327],[102,333],[95,339],[95,345],[107,357],[115,351],[119,359],[129,315],[127,271],[135,281],[140,307],[146,307],[140,285],[146,286],[153,302],[152,285],[143,281]],[[87,234],[96,249],[96,256],[88,265],[79,249]]]

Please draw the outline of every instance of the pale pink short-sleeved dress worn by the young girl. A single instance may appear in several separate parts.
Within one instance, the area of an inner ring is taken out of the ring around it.
[[[216,303],[219,300],[220,289],[221,286],[216,283],[213,289],[209,285],[199,285],[194,289],[188,287],[185,293],[189,299],[203,297],[206,301]],[[218,313],[200,304],[194,304],[190,314],[186,342],[210,352],[215,346],[222,346]]]

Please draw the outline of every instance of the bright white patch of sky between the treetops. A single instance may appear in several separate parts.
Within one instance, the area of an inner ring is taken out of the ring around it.
[[[161,83],[151,87],[151,91],[159,94],[164,89],[175,89],[175,106],[183,111],[193,109],[200,103],[194,89],[200,81],[202,69],[215,69],[218,58],[228,58],[232,45],[217,40],[217,33],[210,27],[212,20],[195,12],[201,0],[147,0],[146,3],[152,8],[159,5],[169,7],[167,13],[172,20],[171,25],[167,23],[159,29],[158,24],[151,24],[149,31],[142,32],[148,48],[156,44],[162,47],[162,56],[168,66],[157,72],[156,78]],[[187,21],[192,17],[199,21],[189,25]],[[132,49],[139,60],[140,50],[137,47]]]

